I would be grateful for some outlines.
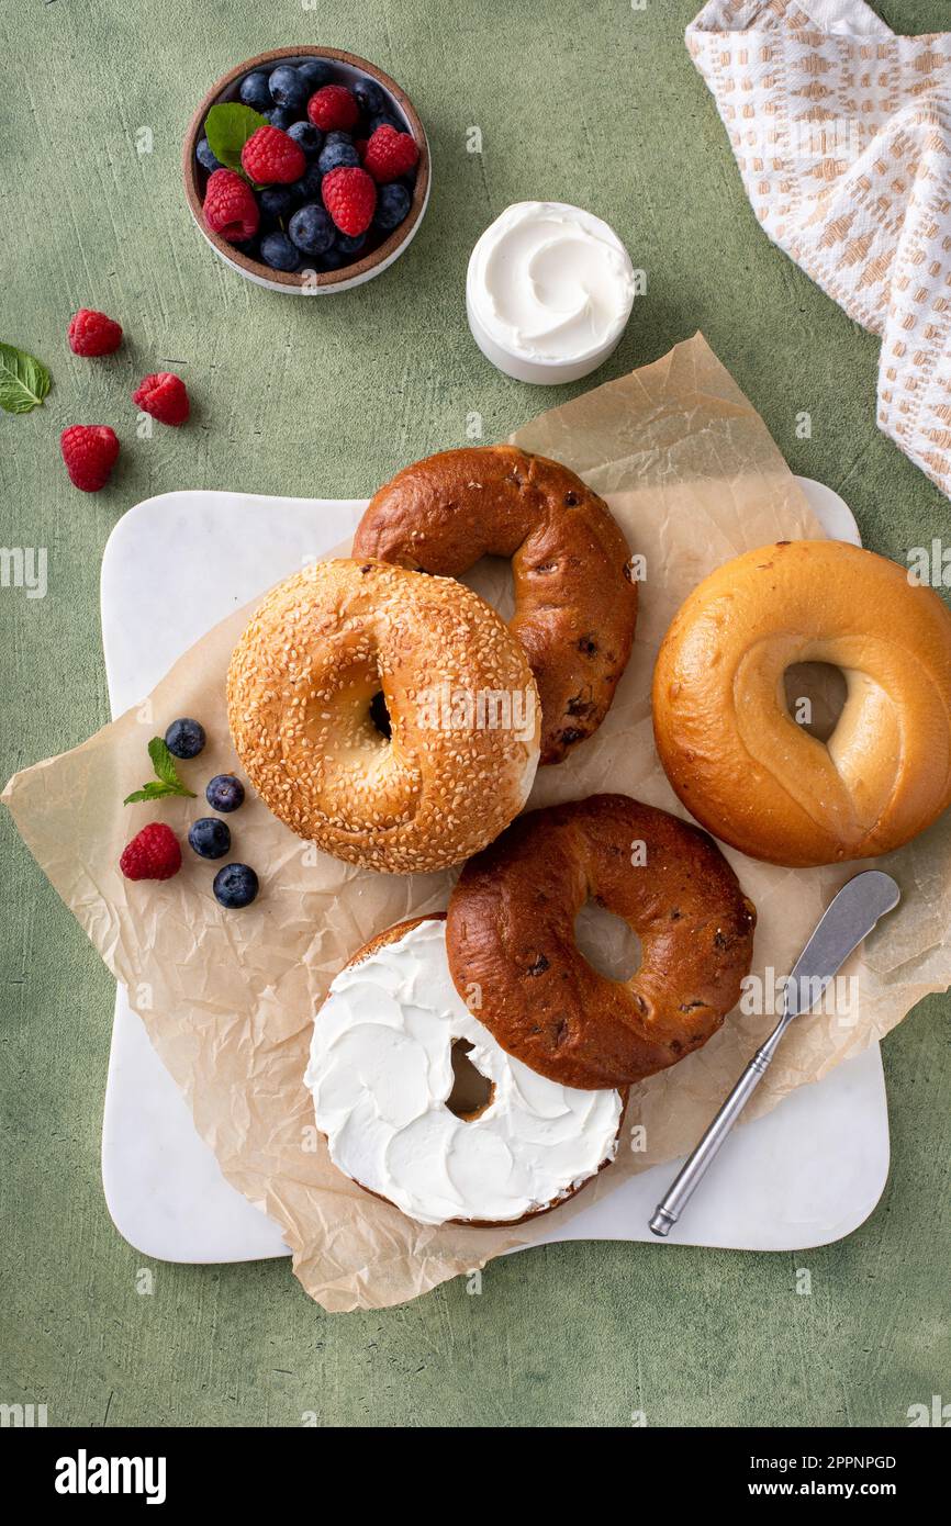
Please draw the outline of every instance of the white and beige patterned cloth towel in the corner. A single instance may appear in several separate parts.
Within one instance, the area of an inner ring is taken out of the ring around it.
[[[769,238],[881,334],[879,427],[951,494],[951,34],[710,0],[687,47]]]

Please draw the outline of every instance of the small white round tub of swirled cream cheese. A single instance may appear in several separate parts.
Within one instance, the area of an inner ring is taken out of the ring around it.
[[[621,337],[635,281],[617,233],[566,201],[516,201],[469,259],[472,336],[517,382],[577,382]]]

